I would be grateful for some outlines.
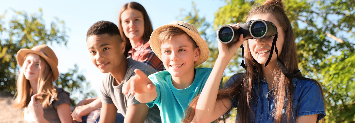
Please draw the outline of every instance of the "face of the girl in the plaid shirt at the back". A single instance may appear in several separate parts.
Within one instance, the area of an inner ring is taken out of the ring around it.
[[[130,40],[140,40],[144,34],[144,17],[142,12],[127,9],[121,14],[122,29]]]

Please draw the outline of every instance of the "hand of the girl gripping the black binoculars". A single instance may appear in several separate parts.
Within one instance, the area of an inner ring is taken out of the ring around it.
[[[236,29],[239,29],[239,26],[237,26],[239,24],[240,23],[232,24],[232,25],[229,24],[229,25],[233,26]],[[220,43],[220,41],[218,41],[218,52],[219,52],[218,57],[230,60],[243,43],[244,43],[243,34],[240,34],[239,41],[232,44],[223,44]]]

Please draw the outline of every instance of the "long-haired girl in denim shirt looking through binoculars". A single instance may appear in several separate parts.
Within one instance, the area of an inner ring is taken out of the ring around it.
[[[210,123],[233,108],[237,108],[239,123],[314,123],[322,119],[323,90],[320,83],[299,71],[295,37],[282,1],[267,0],[252,8],[246,22],[250,23],[219,30],[218,58],[183,122]],[[234,36],[238,32],[240,36]],[[233,75],[218,90],[224,69],[244,42],[246,63],[241,66],[245,73]]]

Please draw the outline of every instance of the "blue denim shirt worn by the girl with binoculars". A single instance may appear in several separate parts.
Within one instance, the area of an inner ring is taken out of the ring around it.
[[[230,77],[224,88],[228,88],[229,85],[234,84],[238,78],[240,78],[239,75]],[[318,114],[317,122],[326,116],[321,89],[316,82],[301,78],[293,78],[292,86],[294,86],[292,111],[295,119],[291,117],[290,123],[294,123],[297,117],[305,115]],[[231,99],[232,108],[236,108],[238,106],[238,102],[236,100],[238,99]],[[285,99],[285,101],[286,100],[287,99]],[[274,117],[272,112],[275,108],[274,101],[275,98],[273,89],[268,91],[268,83],[265,80],[255,79],[253,85],[253,95],[250,100],[250,107],[255,114],[255,119],[254,117],[251,117],[251,123],[273,123]],[[282,114],[284,114],[286,108],[287,107],[284,106]],[[238,114],[236,116],[236,122],[237,121]],[[286,117],[284,120],[282,119],[282,121],[286,123]]]

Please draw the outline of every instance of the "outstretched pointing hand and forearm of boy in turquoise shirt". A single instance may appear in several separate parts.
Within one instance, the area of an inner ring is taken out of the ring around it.
[[[135,69],[135,76],[131,77],[122,87],[122,93],[134,95],[136,100],[141,103],[148,103],[157,98],[155,85],[141,70]]]

